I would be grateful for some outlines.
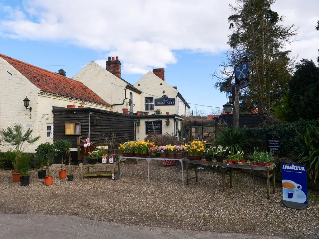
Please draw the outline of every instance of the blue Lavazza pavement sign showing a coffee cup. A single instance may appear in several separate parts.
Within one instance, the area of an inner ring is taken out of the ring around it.
[[[293,209],[308,206],[306,167],[301,165],[282,164],[283,204]]]

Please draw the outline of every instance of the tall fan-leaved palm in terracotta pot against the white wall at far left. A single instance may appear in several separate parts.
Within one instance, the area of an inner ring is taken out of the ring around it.
[[[19,173],[15,167],[17,156],[19,156],[26,149],[26,147],[28,147],[30,144],[33,144],[41,137],[40,135],[32,137],[32,132],[33,130],[31,128],[28,128],[24,132],[24,128],[18,123],[14,123],[12,126],[8,126],[7,128],[0,130],[0,146],[6,148],[8,152],[15,154],[15,157],[11,158],[14,173]],[[12,174],[12,176],[14,175]]]

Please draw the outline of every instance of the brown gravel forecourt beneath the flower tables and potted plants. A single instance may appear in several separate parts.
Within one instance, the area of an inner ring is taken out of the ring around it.
[[[110,177],[81,180],[80,169],[73,165],[75,179],[68,182],[59,178],[58,167],[52,168],[51,186],[32,171],[30,185],[21,187],[12,182],[11,171],[0,170],[0,213],[75,215],[129,225],[319,237],[319,192],[308,193],[307,209],[293,210],[282,205],[280,184],[267,200],[266,180],[256,176],[234,171],[233,188],[227,185],[223,192],[221,174],[212,174],[211,169],[198,170],[198,182],[182,186],[179,163],[165,168],[161,164],[159,177],[156,161],[150,165],[150,183],[146,161],[131,164],[131,177],[128,165],[122,165],[122,178],[117,181]]]

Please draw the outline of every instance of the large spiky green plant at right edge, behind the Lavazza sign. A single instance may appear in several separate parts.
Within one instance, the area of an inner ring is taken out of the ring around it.
[[[308,179],[315,184],[319,174],[319,124],[308,123],[306,132],[297,132],[295,147],[291,152],[296,163],[307,168]]]

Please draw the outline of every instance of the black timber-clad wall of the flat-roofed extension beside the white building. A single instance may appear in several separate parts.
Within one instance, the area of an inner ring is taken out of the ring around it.
[[[73,113],[76,112],[76,113]],[[103,142],[103,134],[107,137],[115,135],[115,146],[125,141],[134,140],[134,119],[129,115],[107,111],[91,111],[91,142]],[[53,110],[53,137],[56,140],[69,140],[72,147],[77,147],[77,137],[79,135],[64,135],[65,123],[81,123],[82,139],[85,134],[89,134],[89,111],[88,110]],[[94,125],[92,118],[98,116],[101,118],[99,125]]]

